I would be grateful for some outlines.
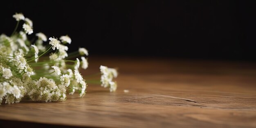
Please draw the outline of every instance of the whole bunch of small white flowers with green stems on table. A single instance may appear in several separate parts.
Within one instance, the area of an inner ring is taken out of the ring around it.
[[[0,35],[0,104],[18,103],[23,97],[41,102],[65,101],[67,92],[79,92],[84,97],[90,82],[101,83],[115,92],[117,83],[112,79],[117,77],[117,70],[100,66],[101,79],[85,81],[79,72],[80,67],[84,70],[88,67],[85,48],[67,54],[66,45],[72,42],[69,36],[61,36],[61,41],[50,37],[49,45],[43,45],[47,37],[41,32],[31,42],[27,34],[34,33],[33,22],[22,13],[14,14],[13,18],[17,25],[11,36]],[[20,22],[22,30],[17,32]],[[76,56],[81,56],[81,60],[71,60]]]

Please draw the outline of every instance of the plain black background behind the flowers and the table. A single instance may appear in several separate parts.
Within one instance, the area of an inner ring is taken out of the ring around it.
[[[256,61],[254,1],[4,0],[0,33],[10,35],[22,12],[34,34],[68,34],[71,51],[90,55]]]

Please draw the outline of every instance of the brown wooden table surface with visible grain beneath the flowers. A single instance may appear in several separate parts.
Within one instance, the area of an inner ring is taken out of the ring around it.
[[[89,85],[84,98],[2,104],[0,127],[256,127],[256,63],[90,57],[83,74],[100,64],[119,68],[117,92]]]

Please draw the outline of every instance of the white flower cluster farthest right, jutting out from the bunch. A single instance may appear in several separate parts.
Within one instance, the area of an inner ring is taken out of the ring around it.
[[[100,70],[101,86],[104,88],[109,87],[110,92],[115,92],[117,90],[117,82],[113,82],[112,79],[117,77],[117,70],[102,65],[100,66]]]

